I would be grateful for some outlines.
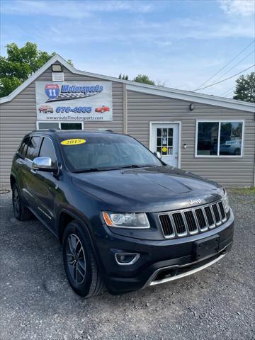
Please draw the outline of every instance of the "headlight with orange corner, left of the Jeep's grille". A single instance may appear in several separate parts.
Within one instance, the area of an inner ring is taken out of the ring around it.
[[[103,211],[103,220],[109,227],[118,228],[149,228],[147,215],[135,212],[105,212]]]

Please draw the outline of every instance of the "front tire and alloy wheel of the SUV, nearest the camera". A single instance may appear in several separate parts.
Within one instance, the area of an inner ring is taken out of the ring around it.
[[[64,231],[62,250],[64,270],[75,293],[88,298],[106,290],[89,236],[75,221]]]

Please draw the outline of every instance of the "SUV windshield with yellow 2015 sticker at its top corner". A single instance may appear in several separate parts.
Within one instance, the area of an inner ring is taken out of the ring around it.
[[[60,142],[64,161],[70,171],[100,171],[162,165],[154,154],[132,137],[86,134],[79,134],[78,137],[83,139],[82,144],[67,145],[67,138],[65,140],[62,138]]]

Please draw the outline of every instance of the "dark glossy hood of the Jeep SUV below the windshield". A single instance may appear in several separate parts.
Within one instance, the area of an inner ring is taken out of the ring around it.
[[[100,198],[108,210],[117,212],[160,212],[191,208],[213,202],[222,188],[212,181],[171,166],[111,170],[73,174],[72,182],[82,191]]]

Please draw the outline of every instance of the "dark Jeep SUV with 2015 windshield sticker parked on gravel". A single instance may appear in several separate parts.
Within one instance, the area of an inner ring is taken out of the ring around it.
[[[196,273],[232,246],[225,190],[128,135],[31,132],[13,157],[11,188],[16,218],[33,212],[60,239],[69,283],[84,297]]]

